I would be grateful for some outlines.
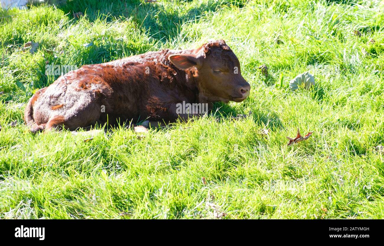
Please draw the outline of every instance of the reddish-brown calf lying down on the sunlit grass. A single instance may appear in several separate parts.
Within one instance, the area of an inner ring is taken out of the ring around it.
[[[236,55],[217,40],[190,50],[147,52],[103,64],[84,65],[38,90],[25,109],[32,132],[133,120],[174,122],[184,102],[211,104],[248,97],[250,85]]]

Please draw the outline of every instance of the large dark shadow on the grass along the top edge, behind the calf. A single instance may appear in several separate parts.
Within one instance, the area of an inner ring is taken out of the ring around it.
[[[243,7],[247,1],[208,1],[188,7],[190,2],[172,1],[162,4],[145,3],[140,0],[73,0],[65,5],[60,5],[59,8],[71,15],[76,12],[86,13],[91,22],[100,17],[106,17],[107,21],[116,18],[132,18],[151,38],[166,43],[179,35],[179,27],[183,23],[199,20],[205,13],[216,12],[225,6]],[[177,8],[174,5],[177,5]]]

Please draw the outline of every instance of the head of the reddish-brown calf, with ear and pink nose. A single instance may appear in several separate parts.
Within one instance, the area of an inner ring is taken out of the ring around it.
[[[200,93],[214,101],[241,102],[250,93],[250,85],[243,78],[240,62],[225,44],[216,40],[188,53],[169,55],[168,59],[177,68],[193,70]]]

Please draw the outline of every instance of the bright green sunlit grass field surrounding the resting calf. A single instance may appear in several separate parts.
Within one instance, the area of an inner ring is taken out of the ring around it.
[[[46,64],[219,38],[252,89],[209,117],[89,142],[33,135],[23,122],[31,95],[58,78]],[[35,54],[22,52],[28,41],[40,44]],[[375,150],[384,145],[383,1],[69,0],[2,10],[0,57],[2,219],[384,218],[384,154]],[[315,87],[292,92],[289,81],[306,71]],[[313,135],[287,146],[298,128]]]

